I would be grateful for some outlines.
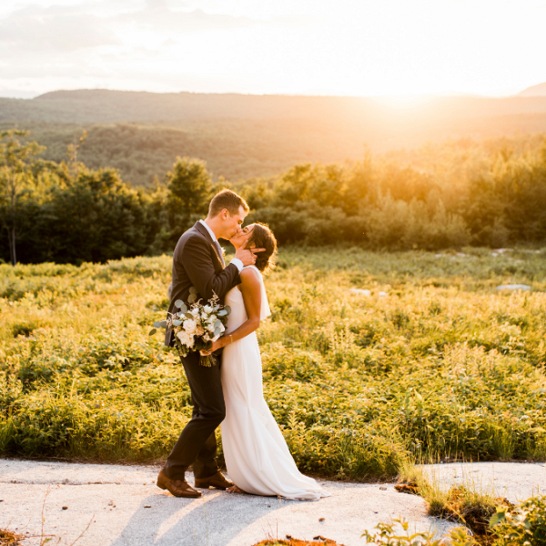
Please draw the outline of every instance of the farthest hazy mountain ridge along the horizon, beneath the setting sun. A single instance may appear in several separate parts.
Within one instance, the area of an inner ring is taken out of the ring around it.
[[[546,84],[543,84],[546,86]],[[533,86],[522,92],[531,92]],[[523,97],[526,98],[526,97]],[[33,99],[0,98],[0,121],[56,123],[157,122],[187,119],[329,119],[369,125],[408,120],[445,122],[454,117],[513,116],[546,112],[546,102],[522,96],[430,96],[411,106],[403,99],[355,96],[281,96],[149,93],[82,89],[53,91]]]

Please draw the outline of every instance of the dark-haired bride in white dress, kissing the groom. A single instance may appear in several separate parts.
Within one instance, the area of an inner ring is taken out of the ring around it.
[[[306,501],[329,497],[317,481],[299,472],[264,399],[255,332],[260,320],[271,314],[262,273],[273,265],[277,241],[267,226],[251,224],[230,242],[236,249],[246,245],[266,250],[257,253],[255,266],[243,268],[241,284],[227,292],[226,305],[231,313],[226,335],[208,351],[224,348],[221,378],[226,419],[221,425],[222,445],[227,474],[236,484],[228,491]]]

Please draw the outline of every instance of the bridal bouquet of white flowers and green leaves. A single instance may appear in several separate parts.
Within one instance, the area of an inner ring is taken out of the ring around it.
[[[190,351],[209,350],[212,344],[226,331],[227,316],[231,308],[220,305],[219,298],[215,294],[203,305],[197,299],[197,289],[189,288],[187,304],[181,299],[175,301],[178,309],[175,313],[168,313],[167,320],[154,322],[154,329],[150,336],[157,332],[157,328],[172,329],[175,332],[175,343],[182,357],[187,357]],[[217,359],[214,355],[201,355],[201,366],[216,366]]]

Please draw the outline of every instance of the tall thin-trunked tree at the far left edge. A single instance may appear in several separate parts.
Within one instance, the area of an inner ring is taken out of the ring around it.
[[[28,131],[9,129],[0,133],[0,198],[2,208],[9,209],[3,214],[8,233],[9,254],[12,264],[17,263],[16,209],[18,199],[28,186],[32,177],[31,165],[33,156],[41,154],[45,147],[37,142],[23,142],[19,137],[28,136]]]

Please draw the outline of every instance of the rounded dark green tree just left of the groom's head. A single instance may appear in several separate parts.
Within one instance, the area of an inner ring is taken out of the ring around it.
[[[167,214],[173,241],[191,223],[207,214],[212,197],[212,179],[204,161],[177,157],[167,173]]]

